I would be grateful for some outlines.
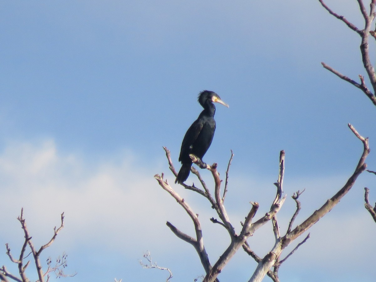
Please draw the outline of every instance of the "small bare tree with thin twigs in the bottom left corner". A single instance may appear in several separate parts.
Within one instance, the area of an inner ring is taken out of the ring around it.
[[[17,282],[29,282],[30,280],[26,275],[26,268],[29,266],[30,260],[28,260],[25,263],[25,259],[30,254],[32,254],[33,261],[35,263],[36,273],[38,274],[37,282],[44,282],[46,275],[47,275],[46,281],[48,282],[50,279],[50,273],[52,272],[56,274],[56,277],[67,277],[67,276],[76,275],[76,274],[67,275],[64,273],[64,268],[67,267],[67,254],[65,253],[63,253],[62,257],[58,257],[58,259],[56,259],[55,265],[52,265],[52,259],[49,257],[47,259],[47,270],[45,271],[45,273],[43,272],[42,264],[40,261],[40,255],[42,251],[48,248],[49,246],[51,246],[53,241],[55,241],[56,236],[58,235],[60,230],[64,227],[64,212],[61,214],[61,225],[58,228],[56,228],[55,226],[55,228],[53,229],[54,233],[50,241],[47,244],[41,246],[39,249],[36,249],[34,247],[34,244],[31,240],[32,237],[30,236],[29,230],[27,229],[26,220],[23,217],[23,208],[21,209],[21,215],[17,218],[17,220],[20,221],[21,228],[25,234],[24,236],[25,240],[21,247],[20,255],[18,256],[18,258],[15,258],[14,255],[12,255],[9,244],[5,244],[5,246],[6,246],[6,254],[9,256],[9,259],[15,264],[17,264],[18,266],[18,272],[19,272],[20,277],[17,277],[16,275],[10,273],[8,269],[5,267],[5,265],[3,265],[0,268],[0,280],[1,281],[9,282],[9,279],[12,279]],[[30,252],[26,251],[27,247],[29,247]]]

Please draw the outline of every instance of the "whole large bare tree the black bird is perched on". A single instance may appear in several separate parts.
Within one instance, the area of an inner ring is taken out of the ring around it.
[[[193,185],[186,185],[182,183],[181,185],[188,190],[192,190],[196,193],[199,193],[203,197],[205,197],[209,201],[209,205],[216,211],[218,215],[218,219],[212,217],[210,220],[212,223],[217,223],[223,226],[230,235],[230,243],[228,247],[224,250],[223,254],[220,258],[212,265],[209,260],[209,255],[206,252],[204,241],[203,241],[203,231],[201,227],[201,223],[199,220],[199,216],[193,209],[188,205],[188,203],[179,196],[179,194],[173,189],[172,186],[168,183],[167,180],[164,179],[164,174],[162,173],[161,176],[156,174],[154,177],[158,181],[159,185],[167,191],[178,203],[182,208],[186,211],[186,213],[190,216],[191,220],[193,221],[195,236],[192,237],[186,233],[180,231],[176,226],[172,223],[167,221],[167,226],[171,229],[171,231],[183,241],[190,243],[194,249],[196,250],[197,254],[199,255],[200,261],[202,266],[205,270],[206,276],[204,278],[204,282],[212,282],[212,281],[219,281],[218,274],[221,273],[225,265],[230,261],[233,255],[242,247],[243,250],[248,253],[255,261],[258,263],[256,270],[251,275],[249,282],[256,282],[261,281],[265,275],[271,277],[271,279],[275,282],[279,281],[278,278],[278,270],[280,265],[286,261],[286,259],[296,251],[296,249],[301,246],[308,238],[309,234],[305,237],[305,239],[297,244],[297,246],[288,253],[285,258],[281,259],[282,251],[294,240],[296,240],[300,235],[305,233],[310,227],[312,227],[321,217],[326,215],[335,205],[350,191],[352,186],[354,185],[358,176],[366,169],[367,165],[365,164],[365,159],[370,151],[368,146],[368,138],[364,138],[355,130],[355,128],[349,124],[349,128],[355,134],[355,136],[362,142],[363,144],[363,152],[359,159],[358,164],[355,167],[353,174],[349,177],[346,184],[337,192],[331,199],[328,199],[323,206],[318,208],[312,215],[310,215],[306,220],[304,220],[301,224],[294,226],[294,220],[297,214],[300,211],[300,202],[298,200],[299,196],[302,192],[297,191],[296,194],[293,195],[293,199],[296,202],[296,211],[291,217],[290,223],[287,228],[287,232],[283,235],[280,233],[279,224],[277,220],[277,213],[279,212],[280,208],[285,202],[286,196],[283,196],[283,180],[284,180],[284,170],[285,170],[285,152],[282,150],[280,152],[279,157],[279,176],[276,183],[276,196],[271,203],[270,210],[260,217],[258,220],[254,220],[256,212],[258,211],[259,204],[257,202],[251,202],[251,209],[249,213],[246,215],[244,223],[241,223],[241,231],[240,233],[235,232],[235,228],[233,224],[230,222],[229,216],[227,215],[226,208],[224,206],[224,200],[227,192],[227,183],[228,183],[228,174],[230,163],[233,158],[233,153],[231,153],[229,165],[226,171],[226,181],[223,190],[223,194],[221,196],[221,183],[222,180],[220,179],[219,173],[217,171],[217,164],[207,165],[203,164],[199,158],[196,158],[194,155],[190,155],[192,161],[197,164],[201,168],[206,168],[211,171],[212,176],[214,178],[214,196],[212,196],[211,191],[209,191],[208,186],[206,185],[205,181],[200,176],[199,171],[197,171],[194,167],[191,168],[193,174],[195,174],[202,186],[202,188],[196,187]],[[164,147],[166,152],[166,157],[169,163],[170,170],[174,174],[177,175],[176,170],[174,168],[173,162],[171,161],[170,151]],[[268,254],[261,258],[253,252],[250,248],[249,244],[247,243],[247,239],[256,232],[261,226],[265,223],[271,221],[273,225],[273,232],[275,237],[275,243],[273,248],[268,252]],[[271,270],[273,268],[273,270]]]

